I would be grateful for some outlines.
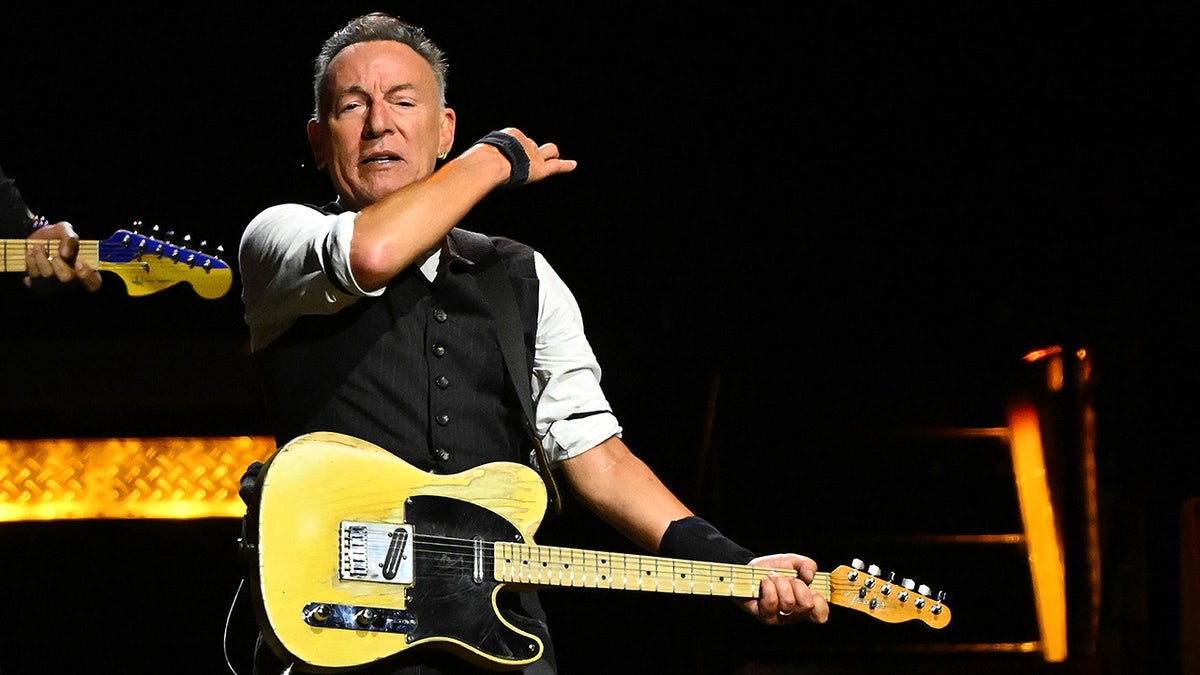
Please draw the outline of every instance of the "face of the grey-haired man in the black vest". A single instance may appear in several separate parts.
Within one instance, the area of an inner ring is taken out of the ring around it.
[[[348,208],[430,175],[454,142],[454,110],[442,107],[433,68],[407,44],[342,49],[329,67],[328,96],[325,121],[308,124],[308,141]]]

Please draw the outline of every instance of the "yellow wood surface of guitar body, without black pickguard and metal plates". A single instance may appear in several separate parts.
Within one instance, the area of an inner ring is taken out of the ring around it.
[[[541,656],[540,640],[528,634],[524,653],[497,655],[454,635],[431,634],[414,640],[408,633],[322,628],[302,619],[313,603],[408,609],[407,592],[421,579],[402,585],[342,579],[338,551],[343,521],[404,524],[407,503],[414,496],[444,496],[479,504],[511,524],[526,542],[533,540],[547,504],[538,473],[515,462],[438,476],[341,434],[316,432],[292,441],[264,470],[258,512],[259,610],[270,625],[265,637],[276,652],[310,668],[331,670],[371,663],[422,644],[452,647],[469,659],[475,655],[492,668],[520,667]],[[486,574],[491,578],[492,571]],[[496,611],[499,585],[492,586],[490,597]],[[424,616],[416,620],[428,621]]]

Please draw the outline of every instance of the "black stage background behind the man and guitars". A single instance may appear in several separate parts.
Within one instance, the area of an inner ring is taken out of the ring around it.
[[[488,197],[464,225],[548,256],[626,441],[752,548],[857,554],[814,540],[808,514],[863,508],[814,438],[1000,425],[1022,353],[1087,347],[1102,488],[1121,504],[1105,537],[1141,551],[1132,572],[1153,599],[1130,614],[1153,628],[1135,632],[1177,665],[1177,513],[1200,494],[1200,6],[41,4],[5,10],[0,28],[0,162],[36,211],[84,239],[143,221],[222,245],[234,264],[260,209],[331,197],[304,133],[311,59],[377,8],[448,52],[456,149],[517,126],[580,161]],[[130,298],[108,276],[95,295],[35,298],[19,275],[0,281],[7,436],[266,432],[236,285],[220,300],[186,287]],[[714,476],[701,438],[718,383],[739,392],[721,419],[745,442],[726,431]],[[923,471],[904,448],[888,460]],[[980,512],[1007,508],[976,496]],[[218,671],[235,530],[6,526],[4,584],[37,609],[0,643],[0,669]],[[72,554],[64,539],[89,545]],[[71,562],[37,555],[47,540]],[[674,605],[624,602],[563,603],[566,625],[600,617],[563,638],[598,671],[620,651],[583,643],[676,622]]]

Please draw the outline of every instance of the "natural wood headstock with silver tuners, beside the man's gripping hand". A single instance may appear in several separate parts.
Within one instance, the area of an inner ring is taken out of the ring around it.
[[[829,602],[888,623],[919,620],[930,628],[944,628],[950,622],[950,608],[942,602],[946,593],[930,597],[929,586],[917,586],[912,579],[896,584],[894,577],[882,578],[874,565],[864,571],[863,561],[854,560],[829,573]]]

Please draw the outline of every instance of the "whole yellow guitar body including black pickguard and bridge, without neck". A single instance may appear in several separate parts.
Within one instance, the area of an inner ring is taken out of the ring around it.
[[[500,616],[491,543],[532,543],[546,503],[541,478],[516,462],[439,476],[358,438],[301,436],[263,472],[251,578],[264,637],[310,670],[422,645],[492,669],[532,663],[542,644]],[[347,562],[359,539],[383,542],[364,554],[370,569]]]

